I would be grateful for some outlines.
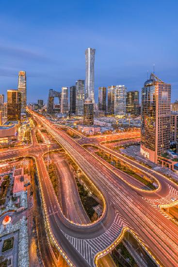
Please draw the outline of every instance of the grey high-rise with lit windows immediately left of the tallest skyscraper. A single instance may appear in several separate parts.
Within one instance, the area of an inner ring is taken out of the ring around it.
[[[85,99],[84,86],[84,80],[76,81],[76,114],[79,116],[83,116],[83,104]]]

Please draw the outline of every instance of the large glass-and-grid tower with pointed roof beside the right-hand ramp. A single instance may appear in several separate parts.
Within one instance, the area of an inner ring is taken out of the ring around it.
[[[167,152],[170,143],[171,84],[155,74],[144,83],[141,101],[141,153],[152,162]]]

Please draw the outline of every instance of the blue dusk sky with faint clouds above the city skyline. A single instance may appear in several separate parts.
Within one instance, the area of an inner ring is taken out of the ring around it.
[[[0,93],[16,89],[27,72],[27,100],[85,79],[87,47],[96,49],[98,86],[141,90],[147,70],[172,84],[178,99],[178,1],[2,0]]]

